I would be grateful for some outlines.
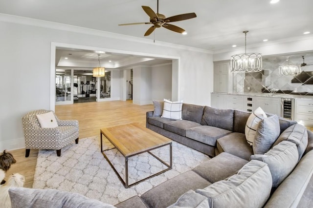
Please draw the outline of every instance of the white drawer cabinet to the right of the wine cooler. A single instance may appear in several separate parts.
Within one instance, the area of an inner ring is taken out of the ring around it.
[[[295,120],[305,126],[313,127],[313,99],[297,99]]]

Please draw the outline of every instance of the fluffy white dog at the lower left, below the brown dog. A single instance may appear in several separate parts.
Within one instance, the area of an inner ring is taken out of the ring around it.
[[[4,171],[0,171],[0,179]],[[9,176],[8,181],[0,186],[0,208],[11,208],[11,199],[9,196],[9,188],[11,187],[23,187],[25,183],[25,177],[19,173],[14,173]]]

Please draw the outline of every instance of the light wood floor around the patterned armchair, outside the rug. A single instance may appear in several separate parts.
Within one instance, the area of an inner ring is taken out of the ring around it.
[[[103,127],[133,122],[145,126],[146,112],[151,110],[153,110],[152,104],[136,105],[132,101],[93,102],[55,106],[55,113],[59,119],[78,120],[80,139],[100,135],[100,128]],[[31,188],[34,181],[38,150],[31,149],[28,158],[25,158],[25,149],[9,152],[13,154],[17,163],[11,166],[6,175],[8,176],[11,173],[24,175],[24,187]]]

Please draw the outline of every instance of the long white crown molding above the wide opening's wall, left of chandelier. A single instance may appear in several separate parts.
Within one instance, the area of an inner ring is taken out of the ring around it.
[[[37,27],[44,27],[44,28],[50,28],[50,29],[55,29],[55,30],[64,30],[68,32],[76,32],[76,33],[100,36],[100,37],[105,37],[105,38],[119,39],[119,40],[124,40],[124,41],[141,42],[145,44],[151,44],[151,45],[153,44],[153,45],[158,45],[158,46],[171,47],[175,49],[184,49],[184,50],[207,53],[207,54],[213,54],[213,51],[202,49],[202,48],[196,48],[196,47],[174,44],[174,43],[169,43],[169,42],[159,42],[159,41],[152,42],[150,39],[138,38],[134,36],[122,35],[118,33],[90,29],[86,27],[79,27],[79,26],[74,26],[74,25],[69,25],[69,24],[63,24],[63,23],[52,22],[52,21],[44,21],[44,20],[26,18],[26,17],[21,17],[21,16],[8,15],[8,14],[3,14],[3,13],[0,13],[0,21],[31,25],[31,26],[37,26]]]

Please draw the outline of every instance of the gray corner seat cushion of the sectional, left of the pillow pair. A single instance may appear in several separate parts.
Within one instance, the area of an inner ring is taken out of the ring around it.
[[[233,132],[217,140],[218,151],[227,152],[237,157],[249,161],[253,154],[252,146],[246,142],[246,136],[243,133]]]

